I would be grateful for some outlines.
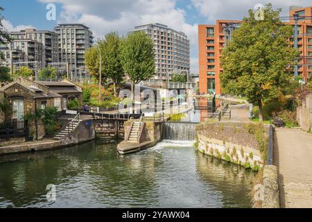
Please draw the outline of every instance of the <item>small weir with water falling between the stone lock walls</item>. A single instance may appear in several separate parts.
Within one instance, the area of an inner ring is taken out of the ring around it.
[[[194,140],[196,124],[191,122],[164,122],[163,139]]]

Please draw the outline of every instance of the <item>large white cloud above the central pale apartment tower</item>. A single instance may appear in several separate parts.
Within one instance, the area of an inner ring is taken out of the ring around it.
[[[189,37],[191,51],[198,48],[198,26],[189,24],[185,11],[175,7],[175,0],[40,0],[42,3],[60,3],[58,23],[83,23],[94,36],[103,37],[111,31],[125,35],[135,26],[148,23],[166,24]],[[191,56],[191,71],[198,72],[197,58]]]

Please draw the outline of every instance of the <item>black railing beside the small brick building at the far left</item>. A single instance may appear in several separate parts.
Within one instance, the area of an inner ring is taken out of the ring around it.
[[[12,119],[0,123],[0,140],[9,140],[17,137],[28,137],[28,121]]]

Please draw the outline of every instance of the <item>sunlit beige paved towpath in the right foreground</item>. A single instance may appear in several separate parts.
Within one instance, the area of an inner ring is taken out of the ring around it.
[[[281,207],[312,207],[312,134],[277,128],[274,139]]]

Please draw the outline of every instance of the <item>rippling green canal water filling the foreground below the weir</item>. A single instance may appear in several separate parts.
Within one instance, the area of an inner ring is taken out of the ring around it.
[[[120,156],[116,144],[97,140],[0,157],[0,207],[250,207],[253,178],[193,142],[164,141]]]

